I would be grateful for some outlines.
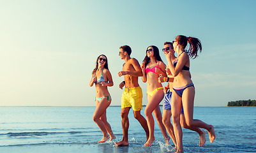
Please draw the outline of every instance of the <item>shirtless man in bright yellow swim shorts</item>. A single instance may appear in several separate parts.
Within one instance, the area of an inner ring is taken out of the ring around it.
[[[124,82],[121,82],[119,87],[125,89],[121,98],[121,117],[123,128],[123,140],[117,142],[118,146],[127,146],[128,143],[128,128],[129,119],[128,113],[130,108],[133,108],[134,118],[140,122],[140,125],[146,132],[147,139],[149,138],[149,128],[147,127],[147,120],[140,114],[142,110],[142,89],[138,84],[138,77],[142,77],[140,64],[135,58],[131,58],[132,49],[128,45],[119,47],[119,56],[124,60],[123,71],[119,71],[118,76],[124,76]]]

